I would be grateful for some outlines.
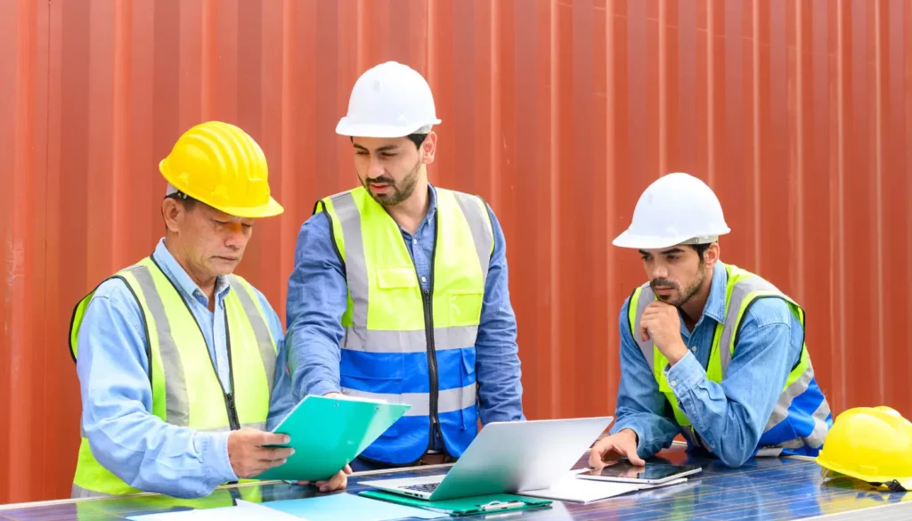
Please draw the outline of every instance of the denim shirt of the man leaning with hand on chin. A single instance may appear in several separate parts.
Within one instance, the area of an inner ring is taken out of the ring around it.
[[[794,364],[801,356],[804,330],[781,298],[754,302],[741,320],[734,357],[722,383],[706,377],[712,337],[725,318],[725,266],[713,268],[710,296],[693,331],[681,320],[681,339],[688,353],[665,368],[681,410],[687,414],[709,450],[723,464],[737,466],[754,451],[782,394]],[[678,422],[627,322],[629,297],[621,307],[621,380],[617,392],[617,420],[610,432],[637,432],[637,453],[648,457],[670,446],[680,432]]]

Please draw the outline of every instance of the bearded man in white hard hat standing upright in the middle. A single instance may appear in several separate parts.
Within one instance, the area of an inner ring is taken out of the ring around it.
[[[452,461],[479,421],[524,419],[503,231],[480,197],[428,182],[439,123],[418,72],[365,72],[336,128],[359,186],[318,201],[297,238],[295,393],[411,405],[355,470]]]

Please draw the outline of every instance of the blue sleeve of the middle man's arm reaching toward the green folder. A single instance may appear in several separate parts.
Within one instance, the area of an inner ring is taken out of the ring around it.
[[[285,346],[297,400],[340,391],[341,320],[347,304],[345,269],[329,234],[329,220],[326,214],[311,215],[297,235],[285,305]]]

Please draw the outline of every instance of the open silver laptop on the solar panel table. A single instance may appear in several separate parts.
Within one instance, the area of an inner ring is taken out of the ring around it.
[[[603,416],[488,423],[447,474],[360,485],[429,501],[548,488],[570,471],[613,420]]]

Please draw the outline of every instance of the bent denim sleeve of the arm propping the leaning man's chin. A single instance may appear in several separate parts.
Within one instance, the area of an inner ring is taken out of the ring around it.
[[[667,369],[668,384],[710,451],[723,464],[751,458],[772,408],[801,355],[803,329],[785,302],[762,298],[742,319],[735,355],[722,383],[710,381],[690,354]]]

